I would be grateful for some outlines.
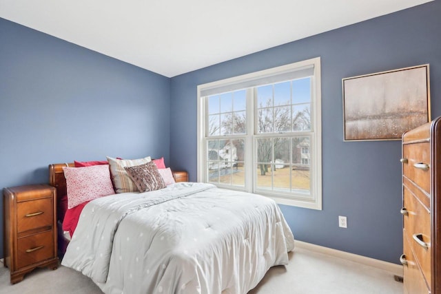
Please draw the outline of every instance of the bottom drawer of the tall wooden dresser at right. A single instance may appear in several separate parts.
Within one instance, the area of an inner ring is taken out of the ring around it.
[[[411,247],[409,245],[409,240],[407,239],[405,233],[403,233],[403,253],[402,259],[407,262],[404,264],[404,293],[407,294],[415,294],[415,293],[430,293],[427,288],[427,284],[424,281],[424,277],[422,277],[422,273],[416,264],[416,260],[411,251]]]

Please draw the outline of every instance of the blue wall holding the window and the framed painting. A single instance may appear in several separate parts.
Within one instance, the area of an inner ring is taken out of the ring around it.
[[[197,85],[321,56],[323,210],[282,206],[283,213],[298,240],[398,263],[400,141],[344,143],[341,83],[430,63],[432,118],[440,116],[440,16],[437,0],[172,78],[172,165],[196,180]],[[339,215],[347,229],[338,228]]]

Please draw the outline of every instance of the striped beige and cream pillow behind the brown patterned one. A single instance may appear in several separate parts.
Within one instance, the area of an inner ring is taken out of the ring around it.
[[[110,164],[110,174],[116,193],[137,192],[135,183],[132,178],[127,175],[124,167],[134,167],[135,165],[143,165],[151,161],[150,156],[139,159],[118,159],[107,156]]]

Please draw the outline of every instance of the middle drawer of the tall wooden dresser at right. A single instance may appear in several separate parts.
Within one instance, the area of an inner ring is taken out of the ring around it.
[[[404,219],[404,235],[409,240],[409,246],[413,251],[427,283],[431,283],[431,226],[430,214],[427,209],[418,201],[416,196],[409,189],[404,187],[403,205],[407,209],[407,215]],[[424,248],[417,242],[429,244],[428,248]]]

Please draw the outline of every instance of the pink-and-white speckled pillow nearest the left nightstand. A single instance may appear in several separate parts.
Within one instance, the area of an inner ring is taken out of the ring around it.
[[[107,165],[63,167],[68,190],[68,209],[95,198],[115,193]]]

